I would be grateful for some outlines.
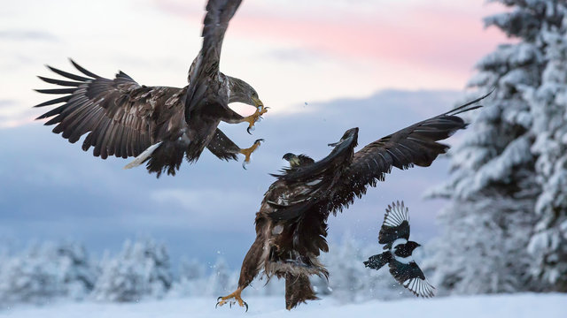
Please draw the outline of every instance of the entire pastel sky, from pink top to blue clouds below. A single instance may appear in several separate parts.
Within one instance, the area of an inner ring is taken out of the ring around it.
[[[67,57],[101,76],[121,70],[144,85],[183,87],[204,8],[205,0],[3,1],[0,239],[71,238],[101,251],[146,233],[165,239],[173,254],[211,260],[218,252],[237,265],[273,182],[268,173],[280,169],[285,152],[320,159],[353,126],[363,146],[448,110],[478,59],[508,41],[482,23],[503,9],[481,0],[244,0],[221,71],[252,84],[271,110],[254,136],[242,125],[222,129],[240,146],[267,140],[249,170],[205,154],[183,163],[177,177],[156,180],[143,168],[121,170],[121,159],[94,158],[33,120],[43,112],[31,106],[46,96],[32,89],[50,87],[35,76],[51,75],[43,64],[72,71]],[[377,215],[403,199],[416,211],[417,239],[430,239],[442,204],[421,193],[446,171],[447,160],[394,171],[330,220],[330,238],[350,231],[373,242]]]

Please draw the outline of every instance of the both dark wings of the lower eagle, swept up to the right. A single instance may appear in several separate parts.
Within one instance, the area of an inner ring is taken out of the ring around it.
[[[358,128],[350,129],[341,141],[322,160],[306,167],[284,169],[274,175],[291,191],[284,204],[274,205],[270,214],[275,220],[300,216],[309,208],[316,208],[323,219],[330,212],[342,210],[355,197],[361,197],[369,186],[384,180],[386,173],[396,167],[402,170],[414,165],[427,167],[438,155],[449,148],[437,141],[447,139],[466,124],[456,115],[481,106],[471,106],[487,95],[459,108],[410,125],[396,133],[376,140],[353,153],[358,139]],[[298,188],[299,190],[293,190]]]

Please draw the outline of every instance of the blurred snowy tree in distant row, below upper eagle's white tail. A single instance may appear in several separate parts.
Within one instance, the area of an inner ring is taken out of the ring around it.
[[[113,260],[102,261],[94,297],[98,300],[138,301],[161,298],[169,290],[172,275],[164,245],[147,239],[131,244]]]

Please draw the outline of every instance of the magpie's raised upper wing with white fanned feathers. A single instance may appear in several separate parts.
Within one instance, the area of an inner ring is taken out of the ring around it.
[[[384,222],[378,234],[378,242],[385,244],[385,248],[390,248],[396,239],[409,239],[409,216],[408,208],[404,201],[392,202],[386,208]]]

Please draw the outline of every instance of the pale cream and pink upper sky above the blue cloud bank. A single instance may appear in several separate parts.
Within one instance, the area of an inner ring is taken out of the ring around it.
[[[201,0],[20,0],[0,12],[0,127],[29,123],[43,64],[67,57],[103,76],[183,87],[201,45]],[[384,88],[462,89],[479,57],[505,41],[480,0],[245,0],[221,70],[272,107],[369,96]]]

